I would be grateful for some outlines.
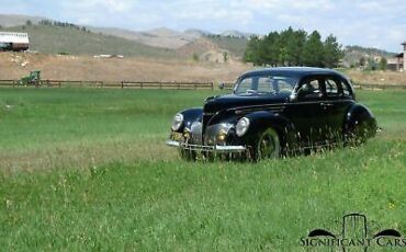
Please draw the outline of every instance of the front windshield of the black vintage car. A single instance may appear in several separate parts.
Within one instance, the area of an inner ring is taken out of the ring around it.
[[[235,94],[290,94],[297,79],[286,76],[247,76],[237,81]]]

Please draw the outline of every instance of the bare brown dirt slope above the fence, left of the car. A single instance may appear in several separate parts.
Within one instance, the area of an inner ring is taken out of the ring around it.
[[[234,81],[252,66],[145,58],[93,58],[29,53],[0,53],[0,79],[20,79],[41,70],[43,79],[57,80],[162,80]]]

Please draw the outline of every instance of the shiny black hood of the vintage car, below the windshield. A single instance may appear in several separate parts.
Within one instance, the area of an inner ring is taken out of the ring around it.
[[[280,104],[289,100],[289,95],[236,95],[227,94],[222,96],[207,98],[204,104],[204,113],[215,113],[223,110],[252,105]]]

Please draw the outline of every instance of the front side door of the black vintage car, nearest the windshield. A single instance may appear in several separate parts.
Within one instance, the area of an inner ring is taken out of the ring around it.
[[[289,108],[289,116],[294,124],[301,146],[319,145],[326,137],[328,112],[323,106],[325,101],[324,78],[322,76],[303,79],[297,89],[297,99]]]

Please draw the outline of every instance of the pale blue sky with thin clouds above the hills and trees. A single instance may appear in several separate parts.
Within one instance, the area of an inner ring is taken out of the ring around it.
[[[268,34],[292,26],[335,35],[342,45],[401,51],[405,0],[0,0],[0,13],[80,25],[146,31],[168,27]]]

